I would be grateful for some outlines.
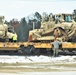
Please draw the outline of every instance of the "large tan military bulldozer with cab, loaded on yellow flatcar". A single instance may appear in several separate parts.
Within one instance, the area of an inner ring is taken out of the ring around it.
[[[41,28],[29,31],[29,41],[54,41],[59,38],[60,41],[75,42],[76,38],[76,22],[73,14],[56,14],[54,17],[49,16],[46,22],[42,17]]]

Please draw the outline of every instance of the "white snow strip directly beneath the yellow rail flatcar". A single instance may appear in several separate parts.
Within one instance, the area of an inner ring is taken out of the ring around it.
[[[0,63],[41,63],[41,62],[68,62],[76,63],[76,56],[8,56],[1,55]]]

